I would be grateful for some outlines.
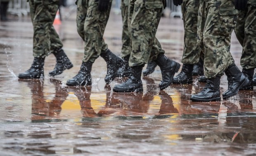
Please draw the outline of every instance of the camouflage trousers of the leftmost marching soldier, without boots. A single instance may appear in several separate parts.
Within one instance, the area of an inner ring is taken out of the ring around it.
[[[33,56],[46,57],[62,48],[59,35],[52,26],[59,0],[28,0],[33,23]]]

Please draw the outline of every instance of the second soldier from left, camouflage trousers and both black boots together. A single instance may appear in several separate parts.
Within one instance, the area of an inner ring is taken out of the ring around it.
[[[116,57],[108,49],[103,39],[103,34],[109,13],[111,2],[109,2],[106,11],[98,10],[98,2],[95,0],[78,0],[77,1],[77,31],[84,40],[84,57],[81,69],[78,74],[67,81],[67,85],[91,85],[91,69],[92,63],[101,56],[107,62],[106,83],[113,80],[118,69],[116,64],[121,64],[121,59]]]

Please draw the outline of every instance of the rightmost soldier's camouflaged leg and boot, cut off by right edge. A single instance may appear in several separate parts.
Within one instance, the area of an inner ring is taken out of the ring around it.
[[[242,14],[243,13],[243,14]],[[242,87],[241,89],[253,89],[253,75],[254,69],[256,68],[256,6],[248,4],[247,9],[239,13],[237,22],[241,19],[240,23],[244,25],[244,40],[243,40],[243,51],[241,56],[241,66],[243,67],[242,72],[250,82]],[[242,24],[241,24],[242,25]],[[236,26],[237,28],[237,26]],[[242,32],[242,28],[241,28]],[[238,32],[238,33],[241,33]],[[238,34],[236,33],[236,34]],[[242,38],[242,37],[241,37]]]

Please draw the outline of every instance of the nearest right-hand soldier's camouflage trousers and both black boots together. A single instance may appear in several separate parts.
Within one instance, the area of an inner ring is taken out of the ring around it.
[[[207,3],[207,4],[206,4]],[[248,79],[235,66],[230,54],[231,33],[235,28],[237,10],[231,1],[221,0],[220,3],[210,0],[204,4],[206,9],[206,24],[203,31],[204,68],[208,78],[205,88],[191,96],[192,101],[219,101],[220,76],[224,73],[230,77],[232,84],[223,93],[223,99],[237,94],[240,87],[248,83]],[[220,8],[218,12],[216,7]]]

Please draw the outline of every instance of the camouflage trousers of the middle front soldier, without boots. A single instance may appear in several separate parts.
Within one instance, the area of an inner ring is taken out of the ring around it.
[[[159,25],[163,11],[161,0],[130,0],[128,7],[128,29],[130,31],[130,41],[132,53],[129,59],[129,66],[146,64],[150,60],[155,60],[160,51],[152,51],[154,44],[161,44],[156,39],[156,30]],[[153,53],[151,53],[153,52]],[[164,53],[164,50],[161,50]],[[155,57],[155,58],[153,58]]]

